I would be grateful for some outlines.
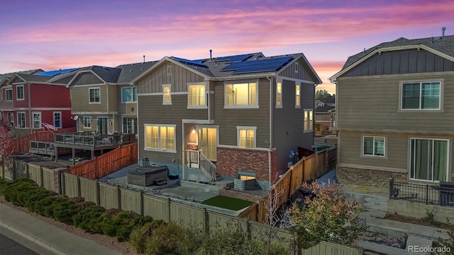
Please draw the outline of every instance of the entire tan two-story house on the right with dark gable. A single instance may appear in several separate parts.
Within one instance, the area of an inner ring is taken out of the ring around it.
[[[381,43],[330,79],[341,183],[454,180],[454,35]]]

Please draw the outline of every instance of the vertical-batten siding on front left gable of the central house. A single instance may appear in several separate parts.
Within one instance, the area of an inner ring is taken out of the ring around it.
[[[172,75],[167,75],[167,66],[172,69]],[[171,62],[162,62],[153,72],[135,82],[138,94],[162,93],[162,84],[172,84],[172,92],[187,92],[187,84],[204,82],[204,77]]]

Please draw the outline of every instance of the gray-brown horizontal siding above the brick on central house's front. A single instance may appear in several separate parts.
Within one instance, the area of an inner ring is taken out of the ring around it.
[[[248,80],[249,81],[249,80]],[[265,141],[270,140],[270,81],[258,81],[259,108],[224,109],[225,85],[224,81],[217,81],[214,86],[214,125],[219,126],[219,145],[237,146],[237,126],[257,127],[256,147],[267,148]],[[242,81],[232,81],[233,84]],[[229,81],[226,81],[229,83]]]

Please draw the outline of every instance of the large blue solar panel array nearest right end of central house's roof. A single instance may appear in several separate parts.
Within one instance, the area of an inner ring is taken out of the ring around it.
[[[275,57],[265,60],[235,62],[224,67],[221,71],[234,71],[233,74],[277,71],[291,60],[293,60],[293,57]]]

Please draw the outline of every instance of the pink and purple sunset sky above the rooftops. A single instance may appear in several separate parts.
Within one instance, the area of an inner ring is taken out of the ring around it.
[[[454,35],[453,0],[0,1],[0,74],[263,52],[303,52],[328,77],[404,37]]]

